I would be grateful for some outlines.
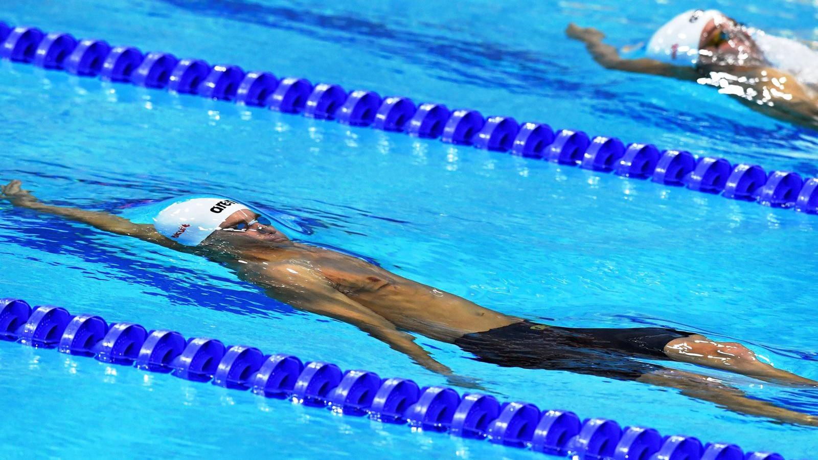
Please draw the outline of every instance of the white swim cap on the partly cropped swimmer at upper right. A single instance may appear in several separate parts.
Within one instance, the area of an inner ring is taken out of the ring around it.
[[[690,10],[667,21],[650,38],[648,57],[675,65],[696,65],[704,26],[712,19],[725,18],[718,10]]]

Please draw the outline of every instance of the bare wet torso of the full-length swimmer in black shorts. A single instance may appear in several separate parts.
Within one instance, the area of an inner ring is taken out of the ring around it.
[[[319,277],[395,327],[437,340],[452,341],[470,332],[488,331],[519,321],[399,277],[365,260],[320,247],[294,242],[256,246],[242,250],[239,259],[240,262],[222,261],[235,268],[240,277],[264,287],[273,296],[281,285],[278,280],[282,275]]]

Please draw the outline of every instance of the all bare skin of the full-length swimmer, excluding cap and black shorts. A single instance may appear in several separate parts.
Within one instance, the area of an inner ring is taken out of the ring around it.
[[[46,205],[22,190],[20,181],[11,181],[2,187],[2,192],[2,197],[16,206],[56,214],[107,232],[137,237],[225,264],[241,279],[260,286],[271,297],[296,309],[353,324],[384,341],[393,350],[407,354],[421,366],[450,377],[451,369],[435,361],[407,332],[451,343],[465,334],[522,321],[400,277],[362,259],[290,241],[276,228],[254,222],[258,214],[247,210],[234,212],[199,246],[190,247],[160,235],[153,225],[132,223],[105,212]],[[672,340],[664,347],[664,353],[672,360],[737,372],[765,381],[818,385],[818,382],[762,363],[744,345],[721,343],[705,336]],[[660,369],[636,380],[676,388],[685,395],[712,401],[737,412],[818,426],[816,417],[748,399],[735,388],[691,372]],[[461,385],[469,383],[462,379],[456,382]]]

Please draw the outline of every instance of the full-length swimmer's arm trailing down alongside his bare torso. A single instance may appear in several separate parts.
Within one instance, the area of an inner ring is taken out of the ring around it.
[[[300,264],[270,264],[262,272],[241,273],[262,286],[268,295],[296,309],[347,322],[375,337],[393,350],[406,354],[432,372],[452,377],[452,369],[438,363],[415,343],[415,337],[398,331],[392,322],[339,292],[320,271]],[[458,381],[461,385],[468,383]]]

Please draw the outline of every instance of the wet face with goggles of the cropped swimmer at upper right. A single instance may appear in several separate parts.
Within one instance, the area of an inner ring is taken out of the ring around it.
[[[763,65],[764,54],[744,29],[727,17],[708,21],[699,40],[699,64]]]

